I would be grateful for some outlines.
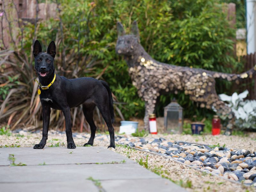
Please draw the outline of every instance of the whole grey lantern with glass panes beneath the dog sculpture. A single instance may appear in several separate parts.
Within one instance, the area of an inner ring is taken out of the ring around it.
[[[182,133],[183,127],[183,108],[172,100],[164,107],[164,129],[166,133]]]

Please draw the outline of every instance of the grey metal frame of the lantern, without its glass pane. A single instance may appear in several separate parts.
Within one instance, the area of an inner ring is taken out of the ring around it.
[[[177,127],[171,129],[168,127],[168,112],[179,113],[178,115],[178,130]],[[169,129],[168,129],[169,128]],[[167,133],[182,133],[183,131],[183,108],[176,101],[172,101],[164,107],[164,130]]]

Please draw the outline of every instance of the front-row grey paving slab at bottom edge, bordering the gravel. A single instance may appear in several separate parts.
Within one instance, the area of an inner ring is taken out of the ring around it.
[[[167,179],[133,179],[133,180],[104,180],[101,186],[106,192],[185,192],[186,190],[178,185],[174,185]],[[171,189],[171,190],[170,190]]]

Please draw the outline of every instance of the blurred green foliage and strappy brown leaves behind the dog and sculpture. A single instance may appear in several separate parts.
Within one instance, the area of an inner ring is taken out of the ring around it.
[[[31,67],[34,65],[31,56],[33,39],[40,41],[44,51],[51,40],[55,41],[57,55],[54,64],[59,75],[67,78],[91,76],[108,82],[116,101],[116,115],[119,116],[120,109],[125,120],[131,117],[142,118],[144,102],[131,83],[125,61],[115,53],[117,21],[121,21],[129,33],[132,21],[136,20],[142,46],[154,59],[161,62],[225,73],[239,73],[243,70],[243,64],[233,54],[236,33],[227,20],[224,3],[236,4],[236,27],[244,28],[244,1],[38,0],[38,3],[43,2],[58,4],[57,17],[38,20],[36,27],[33,23],[25,22],[16,28],[19,42],[12,42],[8,50],[8,54],[13,57],[10,57],[9,63],[5,61],[6,65],[0,66],[0,104],[6,100],[10,90],[17,89],[6,101],[4,106],[7,107],[1,108],[2,115],[5,114],[2,120],[10,120],[10,116],[14,114],[16,121],[10,126],[13,127],[19,120],[13,128],[17,125],[22,127],[22,123],[23,126],[35,124],[41,118],[40,103],[36,100],[36,92],[33,92],[33,78],[36,77]],[[11,9],[12,3],[10,4]],[[7,8],[5,11],[8,11]],[[12,17],[9,19],[12,21]],[[6,54],[6,51],[2,51],[0,57],[4,58]],[[12,65],[14,70],[8,71],[8,65]],[[4,84],[5,82],[8,84]],[[229,95],[236,91],[232,89],[232,83],[218,80],[216,90]],[[177,95],[159,97],[157,116],[163,116],[163,107],[174,97],[184,108],[185,118],[197,115],[199,120],[204,117],[211,119],[214,114],[211,110],[199,108],[187,95],[179,92]],[[16,108],[16,113],[14,110],[8,111],[13,106],[22,107]],[[51,118],[56,127],[63,126],[59,113],[54,112]],[[77,118],[73,123],[81,121],[80,115],[82,116],[80,108],[72,109],[72,117]],[[40,127],[40,124],[37,123],[36,127]]]

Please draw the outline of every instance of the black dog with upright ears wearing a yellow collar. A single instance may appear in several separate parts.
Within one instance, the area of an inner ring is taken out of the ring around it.
[[[97,106],[102,114],[110,135],[109,147],[115,148],[114,108],[111,90],[105,81],[99,81],[91,77],[67,79],[55,75],[53,60],[56,54],[56,46],[52,41],[47,52],[42,52],[39,41],[36,40],[33,50],[35,69],[39,78],[40,101],[43,108],[43,138],[34,149],[42,149],[46,144],[50,123],[51,108],[62,110],[66,122],[66,134],[68,148],[76,148],[72,137],[70,108],[83,105],[85,119],[91,127],[91,137],[84,145],[93,145],[96,126],[93,122],[93,109]]]

